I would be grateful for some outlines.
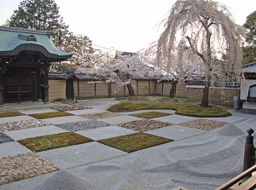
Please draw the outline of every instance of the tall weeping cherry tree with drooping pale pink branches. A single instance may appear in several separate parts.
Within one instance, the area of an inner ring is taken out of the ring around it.
[[[158,65],[166,64],[166,70],[175,67],[175,57],[180,73],[179,80],[183,80],[183,64],[187,56],[180,56],[183,50],[178,47],[189,47],[195,56],[200,58],[196,64],[204,71],[205,85],[201,99],[201,107],[208,107],[210,83],[214,82],[215,74],[224,74],[230,80],[241,76],[241,30],[230,20],[230,12],[224,4],[211,0],[177,0],[173,4],[170,14],[164,20],[166,29],[160,35],[157,49]],[[214,60],[225,55],[220,71],[214,71]]]

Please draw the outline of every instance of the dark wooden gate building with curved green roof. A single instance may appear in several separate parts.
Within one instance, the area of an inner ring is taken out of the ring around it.
[[[0,105],[49,101],[49,66],[72,54],[57,49],[49,32],[0,26]]]

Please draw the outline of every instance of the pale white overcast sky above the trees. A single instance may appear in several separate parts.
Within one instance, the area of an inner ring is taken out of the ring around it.
[[[21,0],[4,0],[0,25],[18,9]],[[158,39],[158,25],[175,0],[55,0],[69,30],[90,37],[93,44],[121,51],[136,52]],[[255,0],[219,0],[243,25],[256,10]]]

